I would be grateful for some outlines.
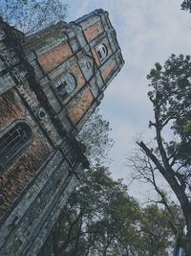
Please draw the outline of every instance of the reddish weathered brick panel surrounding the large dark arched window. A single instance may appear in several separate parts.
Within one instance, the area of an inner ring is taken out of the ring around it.
[[[12,88],[0,96],[0,130],[7,128],[13,121],[25,120],[33,130],[32,145],[0,176],[0,216],[11,209],[11,204],[21,193],[35,172],[44,163],[53,148],[33,122],[29,111],[22,105]]]

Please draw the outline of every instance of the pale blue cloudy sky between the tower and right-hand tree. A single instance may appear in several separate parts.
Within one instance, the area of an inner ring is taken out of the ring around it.
[[[125,165],[140,136],[149,139],[152,105],[147,98],[147,74],[156,62],[171,54],[188,55],[191,45],[191,13],[180,11],[180,0],[74,0],[66,21],[103,9],[117,31],[125,65],[105,91],[99,107],[111,124],[115,145],[110,152],[110,171],[129,183],[132,171]],[[130,187],[130,195],[143,198],[142,185]]]

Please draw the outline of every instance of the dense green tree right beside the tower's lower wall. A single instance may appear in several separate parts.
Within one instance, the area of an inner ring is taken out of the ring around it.
[[[59,252],[106,255],[116,243],[122,223],[133,226],[137,219],[138,203],[125,193],[125,186],[114,181],[107,168],[87,171],[61,217],[67,240]]]

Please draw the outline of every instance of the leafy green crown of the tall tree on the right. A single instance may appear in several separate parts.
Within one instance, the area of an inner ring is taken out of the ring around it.
[[[161,130],[169,127],[176,140],[163,143],[169,158],[181,165],[182,173],[190,172],[191,164],[191,58],[172,55],[163,69],[156,64],[147,77],[152,90],[148,96],[154,106],[155,125]],[[153,123],[150,123],[150,127]]]

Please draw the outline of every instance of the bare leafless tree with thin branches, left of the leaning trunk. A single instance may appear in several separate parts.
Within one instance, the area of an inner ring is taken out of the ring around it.
[[[158,170],[155,165],[141,149],[132,153],[129,162],[131,163],[130,167],[134,172],[131,182],[140,181],[144,184],[150,184],[151,189],[152,187],[154,188],[154,191],[157,192],[157,197],[154,193],[150,193],[145,203],[155,203],[160,205],[160,208],[164,207],[166,213],[165,220],[168,221],[171,226],[174,236],[177,236],[180,230],[183,230],[185,226],[181,208],[179,205],[175,204],[174,201],[171,201],[168,193],[160,187],[161,177],[157,173]]]

